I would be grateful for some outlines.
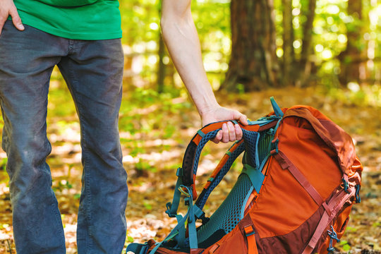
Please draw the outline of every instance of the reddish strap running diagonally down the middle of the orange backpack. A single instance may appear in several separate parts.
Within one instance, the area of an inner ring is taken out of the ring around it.
[[[291,160],[286,157],[286,155],[279,151],[271,151],[272,156],[277,159],[277,162],[282,167],[282,169],[289,169],[290,173],[295,177],[295,179],[303,186],[303,188],[308,192],[308,194],[313,198],[317,205],[322,205],[324,201],[322,196],[316,191],[316,189],[310,184],[306,176],[304,176],[301,171],[291,162]]]

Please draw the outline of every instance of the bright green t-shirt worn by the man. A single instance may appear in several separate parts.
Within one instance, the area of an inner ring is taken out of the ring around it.
[[[13,0],[23,24],[73,40],[121,38],[118,0]]]

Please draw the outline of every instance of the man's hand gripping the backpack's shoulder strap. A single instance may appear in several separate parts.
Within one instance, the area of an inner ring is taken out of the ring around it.
[[[243,125],[248,125],[248,118],[240,112],[232,109],[226,109],[224,107],[216,107],[214,109],[202,112],[202,126],[215,121],[228,121],[236,120],[240,121]],[[230,121],[222,125],[222,130],[219,131],[212,141],[214,143],[228,143],[229,141],[241,140],[242,130],[238,124],[233,124]]]

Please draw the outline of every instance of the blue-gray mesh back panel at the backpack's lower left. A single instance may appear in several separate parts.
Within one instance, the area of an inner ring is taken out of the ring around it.
[[[218,229],[224,229],[228,234],[238,224],[241,218],[241,210],[246,195],[250,191],[252,184],[246,174],[238,177],[236,184],[231,189],[227,198],[218,207],[216,212],[210,217],[210,221],[198,230],[198,242],[205,241]]]

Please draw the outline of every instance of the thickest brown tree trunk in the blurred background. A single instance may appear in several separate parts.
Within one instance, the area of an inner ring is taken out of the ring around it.
[[[277,86],[272,0],[231,0],[231,42],[223,89],[250,91]]]

